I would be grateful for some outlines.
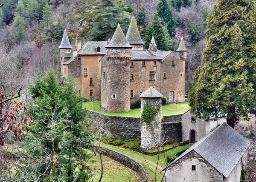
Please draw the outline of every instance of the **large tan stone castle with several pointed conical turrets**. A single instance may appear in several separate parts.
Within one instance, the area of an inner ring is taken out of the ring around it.
[[[87,42],[76,37],[73,51],[66,30],[60,45],[61,72],[72,75],[81,96],[102,100],[107,111],[129,111],[150,86],[168,101],[184,102],[186,47],[160,51],[154,36],[147,50],[134,17],[126,37],[118,25],[111,40]]]

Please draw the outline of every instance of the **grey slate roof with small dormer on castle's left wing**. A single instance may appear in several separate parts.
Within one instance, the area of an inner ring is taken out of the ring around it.
[[[77,54],[79,55],[93,55],[93,54],[107,54],[107,49],[105,46],[107,45],[107,41],[89,41],[81,49]],[[97,47],[100,47],[100,52],[97,52]]]

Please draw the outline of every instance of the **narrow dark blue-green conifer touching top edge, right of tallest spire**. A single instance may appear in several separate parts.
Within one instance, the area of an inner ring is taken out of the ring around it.
[[[174,36],[173,32],[176,29],[176,21],[173,17],[173,10],[168,4],[167,0],[160,0],[157,3],[157,13],[162,19],[163,25],[165,25],[168,29],[169,35]]]

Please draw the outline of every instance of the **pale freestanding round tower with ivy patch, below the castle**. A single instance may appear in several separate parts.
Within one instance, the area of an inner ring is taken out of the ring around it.
[[[156,148],[160,145],[161,121],[162,121],[162,97],[156,89],[150,87],[141,97],[141,114],[143,113],[143,106],[148,103],[153,106],[157,113],[153,121],[148,124],[141,122],[141,147],[142,148]]]

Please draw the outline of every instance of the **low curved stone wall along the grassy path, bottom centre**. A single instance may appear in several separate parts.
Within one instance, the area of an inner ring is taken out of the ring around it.
[[[140,165],[138,162],[135,162],[133,159],[118,152],[109,150],[107,148],[101,148],[100,150],[103,155],[120,162],[121,164],[127,166],[128,168],[138,173],[140,176],[143,177],[143,179],[147,179],[147,172],[145,171],[143,166]]]

